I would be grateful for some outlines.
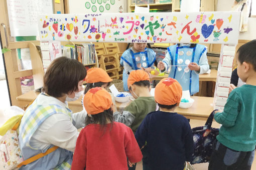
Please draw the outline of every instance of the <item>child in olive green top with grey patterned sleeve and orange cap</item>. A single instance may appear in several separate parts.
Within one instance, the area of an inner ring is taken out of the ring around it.
[[[151,86],[149,80],[150,76],[148,72],[141,69],[132,71],[127,79],[127,85],[133,97],[136,99],[127,105],[122,113],[114,112],[114,120],[130,126],[134,133],[144,117],[149,112],[156,110],[157,104],[154,96],[150,93]],[[146,150],[144,149],[142,151],[144,155],[143,162],[145,162]],[[136,165],[129,169],[135,168]]]

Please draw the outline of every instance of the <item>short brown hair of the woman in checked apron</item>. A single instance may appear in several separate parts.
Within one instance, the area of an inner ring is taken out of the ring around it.
[[[70,91],[78,90],[78,82],[86,76],[86,69],[75,59],[62,56],[56,58],[44,75],[43,91],[53,97],[61,97]]]

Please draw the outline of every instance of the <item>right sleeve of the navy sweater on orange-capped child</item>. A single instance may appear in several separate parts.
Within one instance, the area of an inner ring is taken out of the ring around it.
[[[193,133],[192,133],[189,122],[186,123],[185,131],[186,131],[186,134],[185,134],[186,161],[192,161],[192,154],[194,152],[194,140],[193,140]]]

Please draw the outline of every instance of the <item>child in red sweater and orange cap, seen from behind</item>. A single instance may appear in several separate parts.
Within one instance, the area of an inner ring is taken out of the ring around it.
[[[71,169],[128,169],[142,159],[142,153],[130,127],[113,121],[112,99],[101,87],[91,88],[84,95],[88,114],[81,130]]]

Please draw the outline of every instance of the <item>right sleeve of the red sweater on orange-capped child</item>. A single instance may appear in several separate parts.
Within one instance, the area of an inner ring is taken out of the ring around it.
[[[133,130],[130,127],[127,127],[127,132],[124,136],[124,147],[125,147],[125,153],[128,157],[128,160],[131,162],[139,162],[142,160],[142,152],[141,149],[136,141],[136,138],[134,136]]]

